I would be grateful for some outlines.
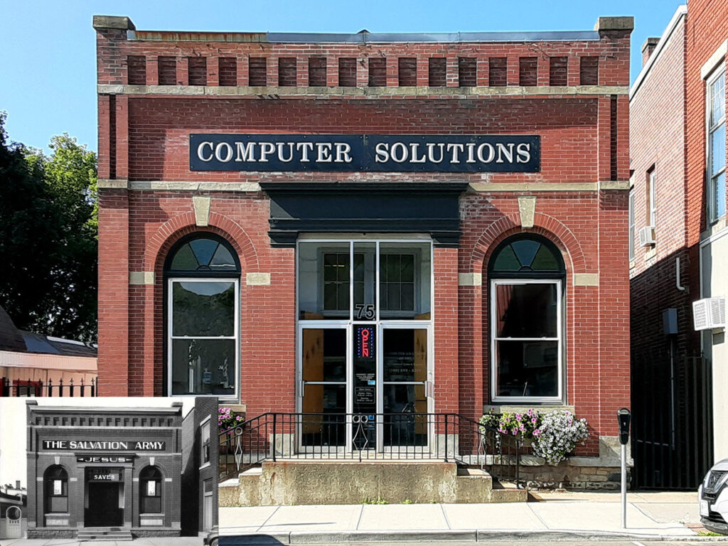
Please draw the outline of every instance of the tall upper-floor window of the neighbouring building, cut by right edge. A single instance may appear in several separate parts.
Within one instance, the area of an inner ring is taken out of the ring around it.
[[[726,73],[708,79],[708,221],[726,213]]]

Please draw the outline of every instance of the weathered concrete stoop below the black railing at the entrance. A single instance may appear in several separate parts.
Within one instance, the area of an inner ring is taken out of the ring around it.
[[[488,472],[435,462],[264,462],[237,484],[221,483],[221,507],[359,505],[387,502],[526,502],[527,492]]]

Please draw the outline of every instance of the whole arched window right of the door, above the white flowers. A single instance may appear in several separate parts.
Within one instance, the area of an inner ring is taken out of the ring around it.
[[[534,234],[503,241],[488,264],[491,400],[563,400],[563,258]]]

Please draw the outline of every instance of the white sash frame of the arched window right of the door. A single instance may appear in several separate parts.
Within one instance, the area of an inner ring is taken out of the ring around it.
[[[531,285],[531,284],[550,284],[556,286],[556,337],[542,338],[499,338],[497,332],[497,298],[496,286],[498,285]],[[516,278],[499,278],[491,280],[491,304],[490,304],[490,338],[491,338],[491,400],[494,403],[561,403],[564,400],[563,384],[564,384],[564,365],[563,365],[563,300],[562,300],[562,281],[561,279],[523,279]],[[498,396],[498,361],[496,359],[496,343],[498,341],[558,341],[557,349],[557,393],[555,396]]]

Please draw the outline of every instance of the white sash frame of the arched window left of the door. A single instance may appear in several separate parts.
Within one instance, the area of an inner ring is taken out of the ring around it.
[[[175,282],[233,282],[235,290],[234,325],[232,336],[173,336],[173,297],[172,287]],[[173,339],[234,339],[235,341],[235,362],[232,365],[233,394],[232,395],[205,395],[205,394],[173,394],[172,392],[172,341]],[[235,401],[240,396],[240,279],[234,277],[170,277],[167,279],[167,396],[215,396],[220,400]]]

